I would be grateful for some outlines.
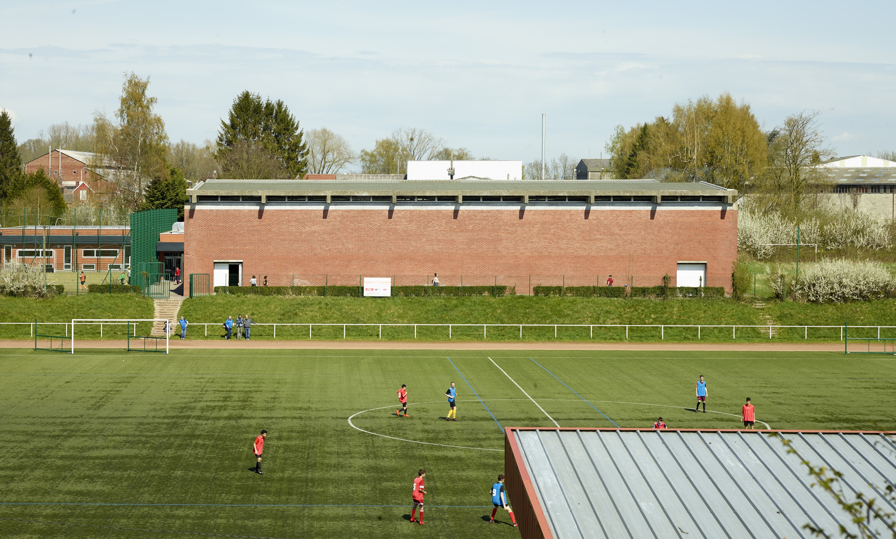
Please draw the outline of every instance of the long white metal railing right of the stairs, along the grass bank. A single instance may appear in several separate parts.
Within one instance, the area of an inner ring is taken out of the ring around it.
[[[220,328],[220,322],[190,322],[191,326],[204,326],[205,337],[209,335],[209,326],[217,326]],[[273,338],[277,338],[277,326],[302,326],[308,327],[308,338],[312,338],[313,328],[314,326],[336,326],[342,327],[342,338],[346,338],[346,329],[349,327],[358,327],[358,326],[366,326],[366,327],[377,327],[379,328],[379,338],[383,338],[383,327],[386,328],[414,328],[414,338],[417,338],[417,329],[418,327],[436,327],[436,328],[448,328],[448,338],[452,338],[452,329],[462,327],[462,328],[482,328],[482,337],[487,338],[488,336],[488,328],[519,328],[520,329],[520,338],[522,338],[522,329],[523,328],[554,328],[554,337],[557,336],[558,328],[590,328],[590,338],[594,338],[594,329],[595,328],[625,328],[625,338],[628,338],[629,328],[656,328],[659,329],[659,338],[661,340],[665,340],[666,338],[666,328],[696,328],[697,329],[697,338],[701,338],[701,332],[704,328],[731,328],[731,338],[737,339],[737,329],[748,329],[748,328],[758,328],[762,333],[765,331],[769,332],[769,338],[771,339],[773,332],[771,329],[784,329],[784,328],[803,328],[804,329],[804,339],[808,340],[809,338],[809,329],[831,329],[831,328],[840,328],[840,340],[843,340],[843,326],[806,326],[806,325],[798,325],[798,326],[784,326],[784,325],[767,325],[767,326],[751,326],[751,325],[742,325],[742,324],[395,324],[395,323],[383,323],[383,324],[334,324],[334,323],[261,323],[261,322],[252,322],[252,327],[255,326],[272,326],[273,327]],[[896,329],[896,326],[849,326],[850,328],[855,329],[869,329],[876,328],[877,329],[877,338],[881,337],[881,329]],[[222,328],[223,329],[223,328]]]

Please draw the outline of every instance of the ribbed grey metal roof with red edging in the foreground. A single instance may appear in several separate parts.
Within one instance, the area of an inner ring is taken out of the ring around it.
[[[839,470],[849,500],[863,492],[896,511],[882,495],[896,478],[892,433],[508,431],[557,539],[795,539],[812,536],[807,523],[831,536],[840,524],[856,533],[833,497],[811,486],[801,458]],[[798,454],[788,454],[780,436]],[[890,536],[879,523],[871,528]]]

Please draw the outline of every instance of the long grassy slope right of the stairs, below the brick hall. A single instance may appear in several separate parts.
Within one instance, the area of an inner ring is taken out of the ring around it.
[[[208,336],[202,326],[189,331],[190,338],[220,338],[220,324],[228,315],[246,314],[261,323],[404,323],[404,324],[682,324],[682,325],[767,325],[763,316],[780,325],[896,325],[896,301],[880,300],[840,305],[770,302],[762,309],[733,300],[624,300],[577,297],[503,298],[351,298],[276,297],[214,295],[185,301],[181,314],[193,324],[209,323]],[[271,326],[255,326],[254,338],[272,338]],[[418,339],[445,340],[447,328],[420,326]],[[859,335],[857,330],[856,336]],[[483,340],[482,327],[454,327],[452,338]],[[701,340],[730,341],[731,329],[702,328]],[[876,336],[876,329],[868,336]],[[892,334],[892,335],[891,335]],[[378,327],[350,327],[346,338],[378,338]],[[864,334],[863,334],[864,335]],[[342,338],[342,327],[315,327],[315,339]],[[884,330],[882,337],[896,337],[896,330]],[[277,338],[308,338],[307,326],[278,326]],[[383,328],[384,339],[413,339],[413,328]],[[804,340],[804,330],[781,329],[776,339]],[[519,340],[519,327],[489,328],[487,340]],[[524,340],[555,340],[554,328],[525,328]],[[589,340],[589,328],[559,328],[556,340]],[[625,328],[595,328],[594,339],[625,340]],[[630,328],[629,340],[655,341],[658,329]],[[666,328],[665,339],[696,341],[695,328]],[[814,329],[809,340],[827,342],[840,339],[840,329]],[[738,329],[737,340],[768,340],[759,329]]]

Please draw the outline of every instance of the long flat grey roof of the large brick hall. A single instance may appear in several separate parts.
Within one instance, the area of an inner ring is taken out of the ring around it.
[[[656,180],[206,180],[186,191],[190,195],[727,195],[737,191],[700,183],[659,183]]]

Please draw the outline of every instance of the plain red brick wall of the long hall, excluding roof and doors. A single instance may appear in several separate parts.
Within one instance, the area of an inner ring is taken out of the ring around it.
[[[481,210],[341,209],[187,210],[185,270],[212,273],[215,260],[241,260],[244,285],[268,275],[271,285],[289,285],[296,274],[329,274],[330,284],[357,284],[358,274],[432,276],[442,284],[461,274],[464,284],[616,285],[634,275],[635,286],[658,285],[664,274],[675,285],[677,261],[706,261],[708,287],[730,292],[737,258],[737,211],[540,210],[532,207]],[[351,279],[334,283],[337,275]],[[556,276],[556,283],[549,278]],[[277,276],[277,277],[274,277]],[[354,277],[351,277],[354,276]],[[472,282],[479,276],[483,283]],[[578,277],[577,277],[578,276]],[[518,282],[509,282],[516,279]],[[551,281],[551,282],[548,282]],[[581,282],[579,282],[581,281]],[[316,283],[314,283],[316,284]],[[321,283],[323,284],[323,283]],[[413,284],[402,283],[396,284]]]

